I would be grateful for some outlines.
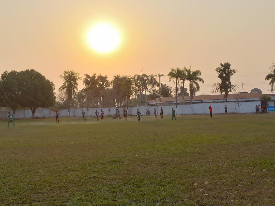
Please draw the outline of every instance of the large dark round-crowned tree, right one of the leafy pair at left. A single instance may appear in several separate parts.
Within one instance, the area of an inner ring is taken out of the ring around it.
[[[32,117],[35,117],[36,108],[48,108],[54,105],[54,84],[42,74],[33,69],[18,73],[20,106],[31,108]]]

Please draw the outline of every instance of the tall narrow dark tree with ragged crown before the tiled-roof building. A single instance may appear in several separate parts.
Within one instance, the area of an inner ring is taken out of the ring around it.
[[[224,99],[227,102],[227,97],[230,92],[235,90],[236,85],[233,85],[230,81],[230,77],[236,73],[235,69],[231,69],[231,64],[225,62],[224,64],[220,63],[220,67],[216,68],[218,73],[218,78],[220,81],[213,84],[213,91],[218,91],[221,94],[224,93]]]

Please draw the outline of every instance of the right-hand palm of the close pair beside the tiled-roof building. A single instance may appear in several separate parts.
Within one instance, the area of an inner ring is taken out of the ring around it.
[[[200,85],[198,82],[201,82],[204,84],[204,80],[200,78],[201,76],[200,70],[191,71],[191,69],[186,69],[185,73],[186,73],[186,77],[185,77],[186,80],[190,81],[190,84],[189,84],[190,104],[192,104],[194,91],[200,90]]]

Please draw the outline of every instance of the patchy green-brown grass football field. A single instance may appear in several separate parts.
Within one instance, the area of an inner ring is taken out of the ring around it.
[[[0,205],[275,205],[275,113],[0,121]]]

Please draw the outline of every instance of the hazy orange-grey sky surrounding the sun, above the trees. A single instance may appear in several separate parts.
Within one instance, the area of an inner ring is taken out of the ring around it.
[[[202,71],[201,92],[212,93],[215,68],[230,62],[242,89],[269,93],[265,75],[275,60],[274,0],[9,0],[0,7],[0,72],[35,69],[56,89],[63,70],[115,74],[161,73],[172,67]],[[110,22],[121,46],[98,54],[88,29]],[[167,77],[162,82],[174,86]],[[82,82],[79,88],[82,88]],[[199,94],[200,94],[199,93]]]

